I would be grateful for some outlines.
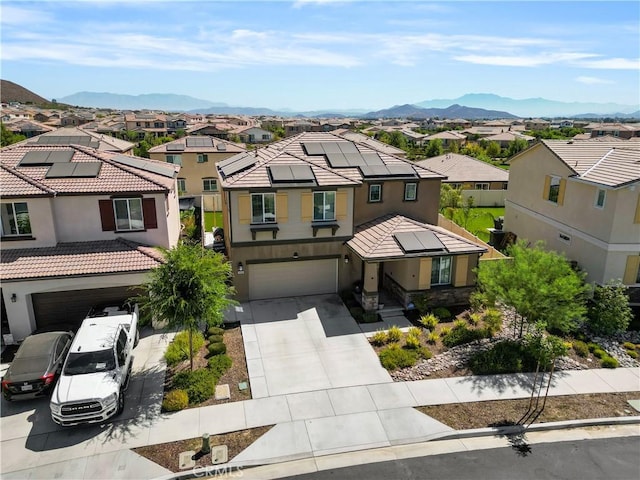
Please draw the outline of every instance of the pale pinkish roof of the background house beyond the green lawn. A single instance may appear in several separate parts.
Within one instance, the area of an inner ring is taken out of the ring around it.
[[[459,153],[447,153],[416,162],[447,176],[447,182],[508,182],[509,172]]]

